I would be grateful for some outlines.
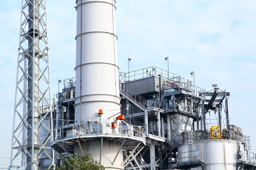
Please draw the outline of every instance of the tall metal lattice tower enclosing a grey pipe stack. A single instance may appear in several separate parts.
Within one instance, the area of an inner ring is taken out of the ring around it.
[[[22,0],[10,167],[54,169],[52,125],[46,0]]]

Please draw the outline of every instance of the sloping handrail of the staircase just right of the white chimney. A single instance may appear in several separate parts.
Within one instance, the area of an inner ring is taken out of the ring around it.
[[[125,94],[128,95],[128,97],[130,97],[131,99],[133,99],[134,101],[136,101],[137,103],[139,103],[142,107],[147,106],[147,100],[144,99],[142,96],[140,96],[139,94],[137,94],[135,91],[133,91],[131,88],[129,88],[127,85],[125,85],[124,83],[120,83],[119,86],[119,90],[124,92]]]

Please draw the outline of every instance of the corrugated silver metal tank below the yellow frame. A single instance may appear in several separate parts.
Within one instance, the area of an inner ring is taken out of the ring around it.
[[[193,150],[204,152],[204,163],[207,170],[236,170],[237,151],[243,150],[243,145],[231,140],[200,140],[193,143]],[[187,152],[187,153],[186,153]],[[178,148],[178,154],[189,156],[189,144]],[[180,156],[179,161],[188,161]]]

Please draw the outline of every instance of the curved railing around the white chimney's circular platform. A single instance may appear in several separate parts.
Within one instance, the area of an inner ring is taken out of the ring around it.
[[[72,136],[88,136],[96,137],[99,135],[115,135],[115,136],[133,136],[145,142],[145,130],[141,126],[133,126],[123,123],[116,123],[116,127],[112,127],[111,122],[93,122],[84,124],[74,124],[72,128],[59,127],[55,129],[54,139],[65,139]]]

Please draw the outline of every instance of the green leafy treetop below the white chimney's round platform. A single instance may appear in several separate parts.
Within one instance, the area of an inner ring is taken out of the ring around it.
[[[79,156],[75,154],[65,159],[67,164],[62,164],[61,167],[57,167],[56,170],[105,170],[103,165],[98,165],[97,161],[94,161],[91,154],[86,156]]]

